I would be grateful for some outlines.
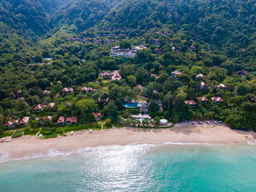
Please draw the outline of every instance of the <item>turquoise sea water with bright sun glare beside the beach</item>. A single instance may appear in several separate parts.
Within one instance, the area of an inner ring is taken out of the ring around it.
[[[256,146],[50,150],[42,158],[0,164],[0,191],[256,191]]]

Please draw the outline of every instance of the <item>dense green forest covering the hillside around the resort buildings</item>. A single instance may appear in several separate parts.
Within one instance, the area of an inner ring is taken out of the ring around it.
[[[2,125],[29,116],[39,126],[48,115],[51,127],[60,115],[86,123],[91,112],[117,122],[139,113],[122,106],[135,100],[148,103],[152,118],[217,119],[256,130],[255,0],[3,0],[0,12]],[[147,48],[111,57],[116,45]],[[100,77],[113,70],[121,80]],[[74,91],[63,96],[63,88]],[[34,112],[49,102],[56,107]]]

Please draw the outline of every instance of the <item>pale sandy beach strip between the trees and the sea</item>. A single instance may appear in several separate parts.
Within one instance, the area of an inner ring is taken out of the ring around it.
[[[256,134],[253,131],[236,131],[224,124],[175,126],[174,128],[146,129],[142,128],[111,128],[108,130],[77,131],[67,137],[55,139],[39,139],[34,136],[6,138],[0,142],[0,157],[10,152],[10,158],[21,158],[35,153],[47,153],[50,149],[61,152],[79,150],[83,147],[101,145],[128,145],[132,143],[182,142],[208,144],[256,144]]]

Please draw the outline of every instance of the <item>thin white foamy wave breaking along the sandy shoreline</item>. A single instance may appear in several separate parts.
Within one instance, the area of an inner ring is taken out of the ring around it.
[[[256,142],[247,142],[248,145],[256,145]],[[101,145],[97,147],[84,147],[79,150],[72,150],[69,152],[61,152],[55,148],[49,149],[46,153],[34,153],[31,155],[26,155],[21,158],[10,158],[12,153],[6,152],[4,155],[0,156],[0,164],[8,161],[28,161],[36,158],[56,158],[59,156],[69,156],[69,155],[86,155],[88,153],[102,153],[104,151],[123,151],[123,150],[138,150],[139,152],[151,149],[151,147],[166,145],[222,145],[222,144],[211,144],[211,143],[197,143],[197,142],[151,142],[151,141],[140,141],[130,143],[129,145]],[[233,143],[230,143],[233,145]]]

